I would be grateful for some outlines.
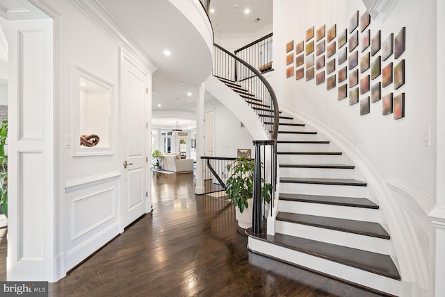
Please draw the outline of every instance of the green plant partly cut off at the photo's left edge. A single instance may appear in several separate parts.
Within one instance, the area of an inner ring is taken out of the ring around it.
[[[1,121],[0,126],[0,205],[8,217],[8,155],[5,153],[8,138],[8,120]]]

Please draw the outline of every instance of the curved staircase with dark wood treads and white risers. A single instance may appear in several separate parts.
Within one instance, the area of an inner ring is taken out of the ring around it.
[[[236,69],[220,71],[225,73]],[[385,218],[353,162],[318,131],[275,113],[277,104],[257,96],[261,92],[247,80],[213,75],[250,106],[270,139],[277,135],[280,178],[267,222],[272,228],[246,230],[250,251],[382,296],[401,296]]]

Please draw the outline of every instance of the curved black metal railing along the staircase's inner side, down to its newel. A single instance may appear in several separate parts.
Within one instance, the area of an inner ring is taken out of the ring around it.
[[[213,46],[213,76],[219,78],[227,87],[238,93],[248,103],[264,125],[268,139],[254,141],[254,219],[252,231],[261,233],[265,230],[269,207],[264,203],[261,183],[270,183],[271,205],[274,207],[277,185],[277,135],[280,121],[277,97],[272,87],[256,69],[245,60],[238,58],[223,47]],[[262,149],[261,149],[262,148]],[[263,153],[261,154],[261,151]],[[263,166],[261,166],[261,164]],[[209,170],[209,172],[211,172]],[[218,178],[214,178],[218,180]],[[224,180],[222,180],[224,182]],[[218,184],[221,185],[220,181]]]

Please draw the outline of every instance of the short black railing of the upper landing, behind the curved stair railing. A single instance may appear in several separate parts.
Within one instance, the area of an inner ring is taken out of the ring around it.
[[[235,56],[248,62],[252,67],[258,69],[261,74],[264,74],[273,70],[272,45],[273,33],[270,33],[237,49],[234,53]]]

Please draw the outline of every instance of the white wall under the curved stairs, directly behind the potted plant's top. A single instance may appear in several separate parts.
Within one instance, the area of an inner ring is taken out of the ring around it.
[[[216,157],[236,158],[238,148],[250,148],[253,158],[252,136],[224,105],[215,107],[214,129]]]

